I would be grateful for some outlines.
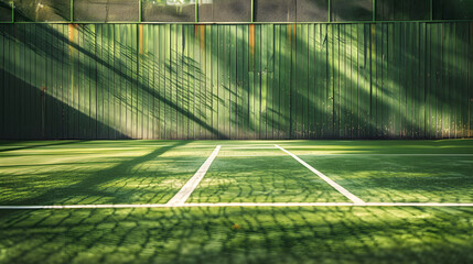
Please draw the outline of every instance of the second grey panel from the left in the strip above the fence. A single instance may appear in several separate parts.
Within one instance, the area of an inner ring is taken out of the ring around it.
[[[74,21],[138,21],[140,0],[74,0]]]

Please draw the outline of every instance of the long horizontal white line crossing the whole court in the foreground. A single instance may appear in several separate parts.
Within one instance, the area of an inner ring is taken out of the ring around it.
[[[144,205],[69,205],[69,206],[0,206],[0,210],[40,209],[117,209],[179,207],[473,207],[458,202],[215,202],[215,204],[144,204]]]

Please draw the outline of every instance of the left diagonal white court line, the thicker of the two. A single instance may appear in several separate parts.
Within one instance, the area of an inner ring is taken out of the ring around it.
[[[212,154],[207,157],[207,161],[202,164],[198,170],[194,174],[194,176],[192,176],[191,179],[187,180],[187,183],[185,183],[182,189],[179,190],[179,193],[175,194],[175,196],[168,201],[168,205],[182,205],[187,200],[192,191],[194,191],[198,183],[201,183],[201,180],[204,178],[205,174],[212,165],[212,162],[214,162],[215,157],[217,156],[219,150],[221,145],[217,145],[214,152],[212,152]]]

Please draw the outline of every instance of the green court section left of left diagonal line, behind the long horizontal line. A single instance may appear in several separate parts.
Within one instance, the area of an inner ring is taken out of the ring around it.
[[[214,148],[185,141],[61,143],[0,152],[0,205],[166,202]]]

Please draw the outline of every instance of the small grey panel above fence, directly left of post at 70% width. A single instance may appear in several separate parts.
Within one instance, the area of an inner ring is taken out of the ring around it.
[[[329,21],[329,0],[297,0],[298,22]]]

